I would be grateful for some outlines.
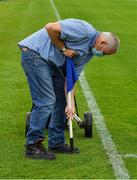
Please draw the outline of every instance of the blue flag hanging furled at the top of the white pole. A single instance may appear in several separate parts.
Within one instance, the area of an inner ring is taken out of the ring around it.
[[[75,70],[73,60],[71,58],[66,58],[66,76],[67,76],[67,93],[70,92],[75,82],[78,80],[78,75]]]

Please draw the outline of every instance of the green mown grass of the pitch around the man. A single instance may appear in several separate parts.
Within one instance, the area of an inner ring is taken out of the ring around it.
[[[63,19],[84,19],[98,30],[119,35],[119,53],[94,58],[86,66],[86,77],[118,151],[137,154],[137,2],[55,0],[55,4]],[[31,100],[17,42],[55,20],[49,0],[0,2],[0,178],[113,179],[95,126],[93,139],[84,138],[83,130],[74,127],[79,155],[58,155],[52,162],[24,158],[25,113]],[[79,85],[77,100],[82,117],[88,108]],[[68,139],[68,132],[66,136]],[[126,158],[124,162],[131,178],[137,178],[137,159]]]

